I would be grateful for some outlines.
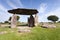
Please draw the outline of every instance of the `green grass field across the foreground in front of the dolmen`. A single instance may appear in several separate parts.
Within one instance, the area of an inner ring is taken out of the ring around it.
[[[55,25],[57,28],[34,27],[30,33],[18,33],[17,29],[0,28],[0,32],[8,32],[0,34],[0,40],[60,40],[60,23]],[[11,32],[12,30],[14,32]]]

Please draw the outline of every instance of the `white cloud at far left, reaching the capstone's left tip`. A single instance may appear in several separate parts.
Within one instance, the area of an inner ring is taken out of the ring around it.
[[[0,4],[0,22],[4,22],[9,19],[11,14],[7,12],[7,9]]]

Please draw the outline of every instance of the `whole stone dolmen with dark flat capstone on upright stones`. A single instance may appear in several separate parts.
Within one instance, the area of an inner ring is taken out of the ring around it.
[[[8,12],[13,14],[11,19],[11,28],[16,27],[16,22],[17,22],[16,14],[30,15],[30,18],[28,19],[28,25],[29,26],[38,25],[38,17],[37,17],[38,11],[36,9],[17,8],[17,9],[8,10]],[[34,15],[34,14],[35,14],[35,18],[33,16],[31,17],[31,15]]]

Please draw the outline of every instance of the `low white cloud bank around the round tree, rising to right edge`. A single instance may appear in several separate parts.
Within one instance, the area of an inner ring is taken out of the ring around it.
[[[60,7],[59,8],[57,7],[55,10],[50,11],[50,12],[40,16],[39,21],[40,22],[48,22],[47,17],[50,15],[56,15],[57,17],[59,17],[59,20],[60,20]]]

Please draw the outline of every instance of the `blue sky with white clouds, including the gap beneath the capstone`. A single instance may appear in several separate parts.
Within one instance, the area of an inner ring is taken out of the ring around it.
[[[38,10],[38,21],[48,22],[47,17],[56,15],[60,21],[60,0],[0,0],[0,22],[8,21],[13,14],[8,10],[17,8],[28,8]],[[19,21],[27,22],[27,15],[20,16]]]

